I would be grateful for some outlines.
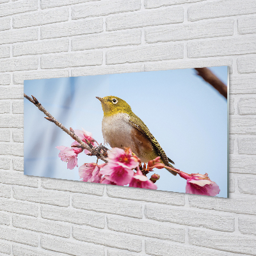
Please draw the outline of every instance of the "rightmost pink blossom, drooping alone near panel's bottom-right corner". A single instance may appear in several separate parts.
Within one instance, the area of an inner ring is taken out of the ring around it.
[[[187,180],[186,193],[207,196],[216,196],[220,193],[219,186],[209,179],[207,173],[203,175],[199,173],[188,174],[179,172],[179,175]]]

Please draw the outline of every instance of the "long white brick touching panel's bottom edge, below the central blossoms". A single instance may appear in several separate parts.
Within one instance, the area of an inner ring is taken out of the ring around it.
[[[166,191],[153,191],[121,186],[107,186],[108,196],[128,200],[141,200],[158,204],[185,205],[185,195]]]

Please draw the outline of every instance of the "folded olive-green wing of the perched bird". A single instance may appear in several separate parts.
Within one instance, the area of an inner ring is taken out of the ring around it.
[[[161,159],[163,161],[164,164],[166,164],[167,166],[172,166],[173,161],[168,158],[163,150],[163,148],[161,148],[160,144],[158,143],[158,141],[156,140],[156,138],[152,135],[152,133],[148,130],[147,125],[145,125],[143,123],[143,121],[138,118],[138,116],[136,115],[130,115],[129,117],[129,123],[135,127],[136,129],[138,129],[140,132],[142,132],[143,134],[145,134],[148,139],[152,142],[152,145],[154,146],[154,148],[156,149],[157,153],[159,154],[159,156],[161,156]],[[170,163],[172,164],[170,164]]]

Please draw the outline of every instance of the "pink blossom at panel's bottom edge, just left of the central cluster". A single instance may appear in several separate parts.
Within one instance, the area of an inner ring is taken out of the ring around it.
[[[79,176],[83,181],[100,183],[102,174],[100,168],[105,164],[88,163],[79,167]]]

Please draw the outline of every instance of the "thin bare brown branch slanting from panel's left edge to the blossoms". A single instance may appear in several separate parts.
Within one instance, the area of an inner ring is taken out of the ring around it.
[[[30,97],[28,97],[28,95],[26,95],[24,93],[24,97],[26,99],[28,99],[30,102],[32,102],[40,111],[42,111],[46,116],[45,119],[47,119],[48,121],[56,124],[58,127],[60,127],[61,130],[65,131],[73,140],[76,140],[83,149],[87,149],[88,151],[90,151],[91,153],[93,153],[95,150],[93,148],[92,143],[90,143],[90,141],[86,140],[86,143],[84,143],[84,141],[82,141],[74,132],[74,130],[72,128],[70,128],[70,130],[68,130],[64,125],[62,125],[60,122],[58,122],[58,120],[56,120],[36,99],[36,97],[34,97],[32,95],[31,99]],[[99,159],[101,159],[102,161],[104,161],[105,163],[107,163],[108,161],[106,161],[106,157],[104,157],[102,154],[97,155],[97,157]]]

